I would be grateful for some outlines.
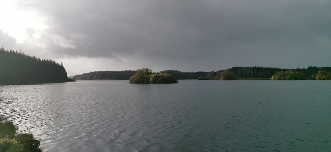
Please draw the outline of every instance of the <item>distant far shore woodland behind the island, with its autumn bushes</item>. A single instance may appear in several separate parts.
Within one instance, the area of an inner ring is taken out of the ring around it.
[[[309,66],[308,68],[273,68],[273,67],[231,67],[218,71],[182,72],[178,70],[165,70],[162,73],[170,74],[175,79],[198,79],[198,80],[330,80],[331,67]],[[129,80],[136,74],[136,70],[125,71],[94,71],[75,75],[76,80]],[[226,75],[228,77],[222,76]],[[233,74],[233,75],[232,75]]]

